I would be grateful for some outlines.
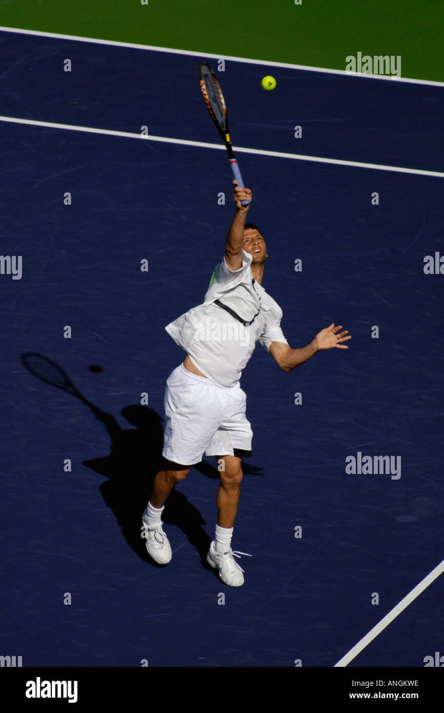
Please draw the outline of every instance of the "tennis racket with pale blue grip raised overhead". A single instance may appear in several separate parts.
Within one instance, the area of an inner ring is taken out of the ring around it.
[[[207,109],[227,149],[229,163],[232,167],[234,178],[237,180],[237,185],[240,188],[245,188],[229,138],[227,106],[225,106],[224,95],[214,71],[212,71],[207,62],[201,62],[199,65],[199,81]],[[242,200],[242,205],[248,204],[249,200]]]

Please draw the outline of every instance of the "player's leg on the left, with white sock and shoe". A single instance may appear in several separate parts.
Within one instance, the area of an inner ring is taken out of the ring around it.
[[[171,559],[171,545],[162,530],[161,515],[165,503],[176,483],[183,481],[190,472],[190,466],[166,461],[162,470],[155,476],[153,491],[142,517],[141,537],[153,560],[166,565]]]

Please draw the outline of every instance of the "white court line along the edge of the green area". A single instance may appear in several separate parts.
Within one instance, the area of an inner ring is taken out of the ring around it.
[[[94,44],[105,44],[113,47],[129,47],[131,49],[145,49],[153,52],[168,52],[170,54],[184,54],[192,57],[210,57],[212,59],[226,59],[231,62],[245,62],[247,64],[261,64],[267,65],[269,67],[284,67],[286,69],[301,69],[308,72],[323,72],[326,74],[345,74],[347,76],[354,77],[366,77],[370,79],[386,79],[395,80],[398,82],[409,82],[411,84],[428,84],[431,86],[443,87],[444,82],[435,82],[428,79],[410,79],[408,77],[398,77],[398,76],[384,76],[383,74],[362,74],[361,72],[347,72],[345,69],[329,69],[326,67],[311,67],[306,64],[289,64],[287,62],[273,62],[267,59],[251,59],[249,57],[232,57],[227,54],[210,54],[208,52],[197,52],[188,49],[176,49],[172,47],[158,47],[155,45],[143,45],[136,44],[133,42],[119,42],[117,40],[103,40],[93,37],[81,37],[77,35],[63,35],[57,32],[43,32],[40,30],[26,30],[19,29],[16,27],[4,27],[0,26],[0,31],[3,32],[16,32],[23,35],[36,35],[38,37],[53,37],[53,39],[58,40],[75,40],[78,42],[92,42]],[[345,62],[345,58],[344,58]]]

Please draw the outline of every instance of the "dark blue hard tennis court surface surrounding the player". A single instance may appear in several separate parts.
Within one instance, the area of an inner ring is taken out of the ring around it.
[[[155,566],[140,538],[165,379],[185,356],[165,325],[203,301],[234,210],[223,147],[180,143],[217,144],[205,57],[7,32],[0,47],[1,252],[22,257],[20,277],[6,260],[0,275],[4,652],[43,667],[334,667],[443,560],[444,277],[423,270],[444,255],[443,89],[221,72],[286,339],[303,347],[331,322],[353,337],[290,374],[258,345],[242,375],[254,437],[233,548],[252,558],[237,590],[205,563],[214,458],[167,503],[172,562]],[[26,352],[106,417],[36,379]],[[399,458],[399,477],[347,473],[358,453]],[[438,577],[349,666],[423,667],[443,648],[443,595]]]

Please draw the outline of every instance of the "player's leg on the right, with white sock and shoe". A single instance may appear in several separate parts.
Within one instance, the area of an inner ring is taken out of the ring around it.
[[[210,545],[207,563],[218,568],[222,582],[230,587],[240,587],[244,583],[244,570],[239,567],[234,556],[247,553],[234,553],[231,538],[239,506],[242,461],[237,456],[217,456],[216,460],[220,472],[220,486],[216,496],[218,516],[215,540]]]

